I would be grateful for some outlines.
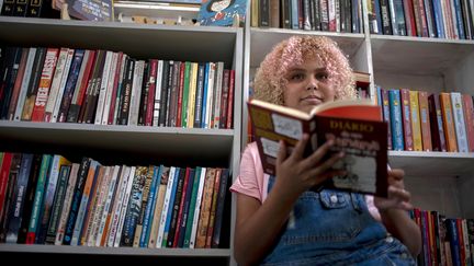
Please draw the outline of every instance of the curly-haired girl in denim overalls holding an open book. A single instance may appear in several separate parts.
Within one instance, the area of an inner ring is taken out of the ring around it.
[[[354,97],[352,70],[335,42],[291,37],[278,44],[255,78],[255,97],[308,112],[323,102]],[[263,174],[257,144],[244,151],[237,194],[235,258],[240,265],[414,265],[420,252],[417,224],[406,210],[410,194],[402,170],[388,171],[388,198],[308,190],[342,172],[343,154],[325,160],[326,142],[303,157],[308,136],[289,153],[283,141],[276,176]]]

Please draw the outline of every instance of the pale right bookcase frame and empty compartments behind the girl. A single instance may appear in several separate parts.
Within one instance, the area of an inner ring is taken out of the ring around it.
[[[374,84],[474,95],[474,41],[370,34],[366,9],[366,1],[362,1],[364,30],[360,34],[246,25],[248,58],[244,66],[244,101],[249,95],[247,84],[251,84],[266,54],[292,35],[323,35],[337,42],[353,70],[371,73],[371,95],[374,95]],[[242,117],[242,136],[246,136],[245,106]],[[242,147],[246,144],[244,140]],[[415,206],[448,217],[474,218],[470,196],[474,189],[473,152],[390,151],[388,162],[392,167],[405,170],[405,184]]]

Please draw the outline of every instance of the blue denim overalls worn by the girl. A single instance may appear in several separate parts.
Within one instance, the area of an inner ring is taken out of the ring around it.
[[[270,176],[269,190],[274,183]],[[415,265],[388,236],[361,194],[323,189],[297,199],[286,229],[262,265]]]

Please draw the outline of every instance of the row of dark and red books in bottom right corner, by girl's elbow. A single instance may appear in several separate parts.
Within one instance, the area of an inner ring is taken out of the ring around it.
[[[474,265],[474,219],[447,218],[419,208],[410,217],[422,238],[418,265]]]

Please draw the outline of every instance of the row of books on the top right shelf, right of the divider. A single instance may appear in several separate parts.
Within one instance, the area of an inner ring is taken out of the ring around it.
[[[472,39],[472,4],[469,0],[370,0],[369,27],[373,34]]]

